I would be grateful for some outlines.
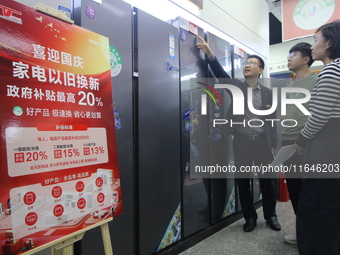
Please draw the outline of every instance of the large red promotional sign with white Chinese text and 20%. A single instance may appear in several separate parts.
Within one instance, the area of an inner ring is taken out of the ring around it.
[[[122,212],[109,60],[108,38],[0,0],[0,255]]]

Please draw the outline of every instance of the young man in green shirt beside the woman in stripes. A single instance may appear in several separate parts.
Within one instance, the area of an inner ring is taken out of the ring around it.
[[[318,75],[312,73],[309,68],[313,64],[314,60],[312,58],[312,45],[309,43],[298,43],[294,45],[287,56],[288,69],[296,74],[295,80],[288,85],[291,88],[305,88],[312,91]],[[304,97],[300,93],[290,93],[288,95],[290,99]],[[303,104],[303,106],[308,109],[308,102]],[[293,119],[297,122],[297,125],[290,125],[286,123],[288,127],[282,132],[282,146],[293,145],[296,139],[299,137],[301,130],[303,129],[305,123],[307,122],[308,116],[301,112],[295,104],[288,104],[286,109],[286,119]],[[299,155],[298,152],[284,162],[284,165],[299,166],[302,164],[303,156]],[[292,203],[294,213],[297,214],[298,199],[300,195],[300,189],[302,184],[302,179],[297,176],[298,173],[286,173],[287,188],[289,192],[290,201]],[[295,232],[295,231],[294,231]],[[286,235],[284,237],[286,243],[296,244],[296,234]]]

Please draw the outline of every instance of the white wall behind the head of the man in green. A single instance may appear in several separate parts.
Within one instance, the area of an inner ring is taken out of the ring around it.
[[[270,74],[279,74],[289,72],[287,68],[287,55],[289,50],[297,43],[307,42],[313,45],[313,36],[295,39],[270,46],[269,49],[269,72]],[[311,69],[321,69],[323,63],[321,61],[314,61]]]

